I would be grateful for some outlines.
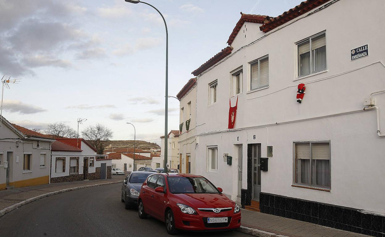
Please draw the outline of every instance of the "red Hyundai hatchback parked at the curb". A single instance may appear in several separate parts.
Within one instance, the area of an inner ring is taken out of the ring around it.
[[[167,233],[177,230],[230,230],[241,225],[238,204],[205,177],[161,173],[149,176],[138,199],[141,219],[152,215],[166,222]]]

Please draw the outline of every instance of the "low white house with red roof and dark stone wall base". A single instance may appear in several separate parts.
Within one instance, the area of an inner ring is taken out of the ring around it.
[[[96,155],[96,150],[80,138],[57,139],[52,144],[51,182],[110,179],[111,159]]]

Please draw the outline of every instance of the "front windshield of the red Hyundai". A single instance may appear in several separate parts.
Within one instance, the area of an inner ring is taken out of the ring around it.
[[[169,182],[169,189],[173,194],[219,194],[216,187],[203,177],[168,177],[167,180]]]

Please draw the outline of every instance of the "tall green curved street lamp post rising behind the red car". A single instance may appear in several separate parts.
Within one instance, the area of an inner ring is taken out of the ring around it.
[[[139,0],[125,0],[126,2],[129,2],[129,3],[140,3],[141,1]],[[167,123],[168,123],[168,31],[167,31],[167,24],[166,24],[166,20],[164,19],[163,15],[161,12],[159,12],[158,9],[156,9],[156,7],[152,6],[151,4],[149,3],[146,3],[146,2],[141,2],[141,3],[144,3],[146,5],[149,5],[150,7],[154,8],[162,17],[163,19],[163,22],[164,22],[164,26],[166,27],[166,96],[165,96],[165,109],[164,109],[164,162],[163,162],[163,166],[164,166],[164,172],[167,173],[167,156],[168,156],[168,151],[167,151],[167,138],[168,138],[168,131],[167,131]]]

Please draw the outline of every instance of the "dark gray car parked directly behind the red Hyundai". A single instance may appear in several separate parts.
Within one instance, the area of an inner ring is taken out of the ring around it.
[[[153,172],[134,171],[127,175],[122,185],[122,202],[125,202],[126,209],[138,204],[139,192],[142,184]]]

